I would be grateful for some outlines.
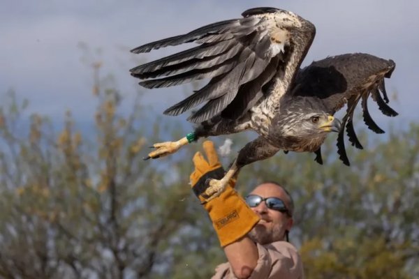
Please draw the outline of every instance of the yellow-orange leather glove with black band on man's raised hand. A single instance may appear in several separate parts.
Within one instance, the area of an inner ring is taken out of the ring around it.
[[[201,202],[200,194],[205,192],[207,179],[221,179],[224,175],[223,167],[211,141],[205,141],[203,148],[208,160],[200,152],[193,156],[195,170],[191,174],[193,192]],[[219,197],[203,204],[210,214],[216,234],[221,246],[241,239],[259,221],[259,217],[247,206],[244,199],[234,190],[236,179],[228,181],[228,186]]]

